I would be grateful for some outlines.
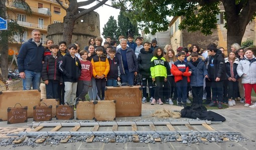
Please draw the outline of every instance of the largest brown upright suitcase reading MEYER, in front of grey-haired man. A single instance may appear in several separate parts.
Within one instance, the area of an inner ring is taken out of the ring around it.
[[[106,86],[105,100],[114,99],[115,116],[142,115],[142,87],[141,86]]]

